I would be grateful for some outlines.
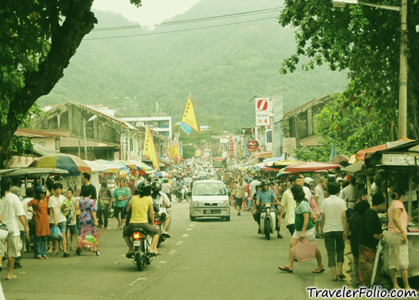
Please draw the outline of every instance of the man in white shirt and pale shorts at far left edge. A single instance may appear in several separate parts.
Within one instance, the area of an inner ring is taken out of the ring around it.
[[[11,179],[3,178],[0,182],[0,221],[6,224],[9,235],[6,240],[0,240],[0,256],[4,257],[7,242],[8,270],[6,280],[16,279],[12,274],[16,257],[21,256],[22,242],[21,232],[18,228],[18,220],[23,225],[25,235],[29,234],[28,222],[25,218],[21,201],[18,196],[11,193]],[[2,219],[2,220],[1,220]]]

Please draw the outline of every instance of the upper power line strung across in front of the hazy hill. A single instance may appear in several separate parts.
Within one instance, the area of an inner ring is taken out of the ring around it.
[[[163,22],[160,24],[148,24],[148,25],[133,25],[133,26],[114,26],[114,27],[104,27],[104,28],[95,28],[92,32],[100,32],[100,31],[109,31],[109,30],[127,30],[127,29],[137,29],[137,28],[149,28],[149,27],[158,27],[158,26],[171,26],[171,25],[178,25],[178,24],[185,24],[185,23],[196,23],[196,22],[203,22],[203,21],[214,21],[214,20],[222,20],[225,18],[237,18],[241,16],[253,16],[261,13],[273,13],[276,11],[281,11],[284,6],[275,7],[273,9],[260,9],[258,11],[246,11],[243,13],[231,13],[227,15],[221,16],[210,16],[205,18],[191,18],[179,21],[168,21]]]

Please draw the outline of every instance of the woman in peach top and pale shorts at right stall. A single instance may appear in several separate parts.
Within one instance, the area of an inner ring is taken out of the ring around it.
[[[397,271],[400,270],[404,289],[410,289],[408,282],[408,213],[403,206],[405,192],[403,189],[394,189],[391,193],[391,205],[388,208],[388,232],[386,235],[388,245],[388,269],[394,289],[400,289],[397,283]]]

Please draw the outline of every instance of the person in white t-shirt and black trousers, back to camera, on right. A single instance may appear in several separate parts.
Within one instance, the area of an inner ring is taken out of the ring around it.
[[[332,270],[332,281],[344,279],[342,272],[344,262],[344,240],[347,238],[347,205],[337,195],[340,193],[339,184],[331,182],[327,188],[330,196],[322,201],[322,227],[325,233],[325,247],[327,250],[328,267]],[[337,262],[337,272],[336,272]]]

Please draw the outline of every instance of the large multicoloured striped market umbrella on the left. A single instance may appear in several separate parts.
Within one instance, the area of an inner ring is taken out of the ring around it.
[[[67,170],[70,176],[77,176],[84,172],[92,173],[92,169],[79,157],[70,154],[53,154],[37,158],[28,167],[47,167]]]

